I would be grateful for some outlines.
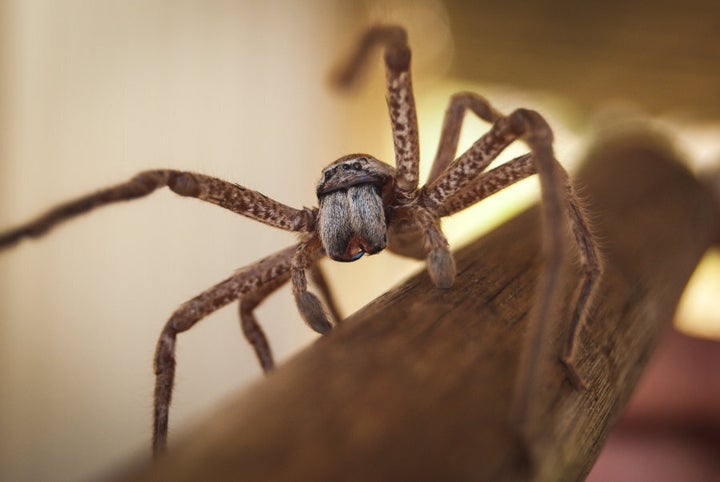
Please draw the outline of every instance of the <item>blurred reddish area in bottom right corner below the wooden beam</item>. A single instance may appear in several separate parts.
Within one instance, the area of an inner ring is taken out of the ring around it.
[[[671,332],[588,481],[720,479],[720,343]]]

